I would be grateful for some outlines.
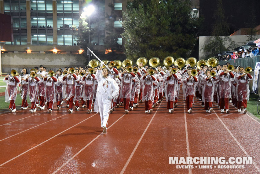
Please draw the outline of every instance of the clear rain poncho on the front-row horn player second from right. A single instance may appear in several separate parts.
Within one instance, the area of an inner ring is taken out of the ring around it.
[[[219,97],[220,98],[231,98],[231,81],[234,80],[234,78],[231,77],[230,73],[227,73],[225,75],[220,75],[223,70],[220,70],[218,72],[217,78],[218,78],[218,88],[219,88]]]

